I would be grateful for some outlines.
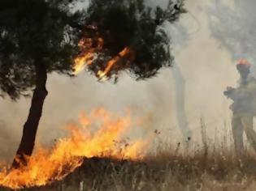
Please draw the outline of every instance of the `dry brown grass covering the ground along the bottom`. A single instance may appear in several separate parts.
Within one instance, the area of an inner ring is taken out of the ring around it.
[[[158,151],[141,161],[84,159],[65,179],[22,190],[256,190],[256,157],[252,152],[237,158],[231,151]]]

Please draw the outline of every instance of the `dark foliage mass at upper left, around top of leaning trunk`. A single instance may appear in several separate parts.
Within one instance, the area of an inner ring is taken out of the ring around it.
[[[70,2],[70,1],[69,1]],[[0,2],[0,92],[12,99],[35,83],[35,64],[48,72],[68,74],[77,52],[77,13],[67,1],[2,0]],[[72,21],[72,22],[71,22]]]

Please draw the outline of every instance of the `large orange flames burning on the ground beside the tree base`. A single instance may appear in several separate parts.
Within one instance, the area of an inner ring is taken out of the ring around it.
[[[47,185],[80,167],[83,158],[141,159],[149,140],[122,142],[131,130],[131,117],[115,117],[104,108],[80,115],[79,125],[68,125],[69,138],[61,138],[50,151],[38,149],[26,167],[8,170],[2,165],[0,185],[11,189]]]

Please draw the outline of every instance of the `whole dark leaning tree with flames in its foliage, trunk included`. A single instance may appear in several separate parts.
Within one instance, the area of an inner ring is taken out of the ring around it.
[[[0,2],[0,93],[32,104],[13,167],[32,155],[44,100],[47,74],[77,74],[85,66],[99,79],[127,70],[135,79],[171,66],[170,39],[164,22],[184,13],[184,2],[151,9],[143,0],[92,0],[76,12],[76,0],[4,0]]]

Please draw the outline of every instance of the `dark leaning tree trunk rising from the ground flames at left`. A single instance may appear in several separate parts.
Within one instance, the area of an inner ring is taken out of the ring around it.
[[[23,135],[20,146],[16,152],[12,168],[20,168],[26,165],[28,157],[32,155],[37,128],[41,118],[42,108],[48,91],[46,90],[47,70],[43,63],[35,64],[36,88],[33,91],[33,98],[28,114],[28,119],[24,124]]]

